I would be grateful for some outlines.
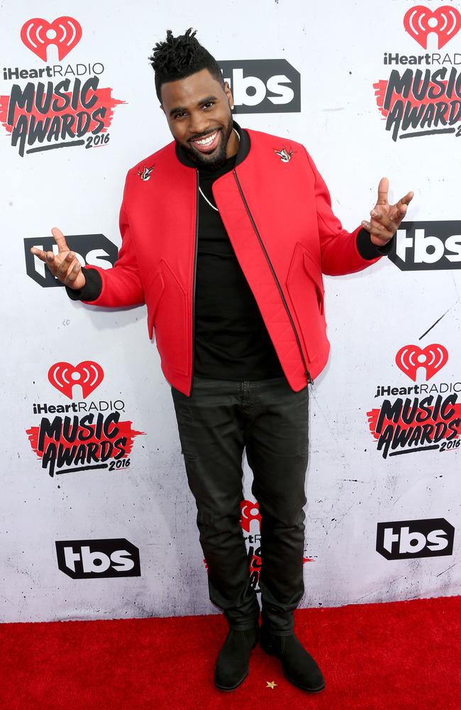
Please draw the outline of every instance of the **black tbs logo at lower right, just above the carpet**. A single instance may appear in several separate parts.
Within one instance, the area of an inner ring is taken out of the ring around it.
[[[378,523],[376,551],[386,559],[452,555],[454,537],[445,518]]]

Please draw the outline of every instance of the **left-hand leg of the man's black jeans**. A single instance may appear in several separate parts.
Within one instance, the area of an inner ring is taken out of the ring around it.
[[[172,388],[189,488],[197,506],[211,601],[232,628],[252,628],[260,606],[250,569],[243,500],[243,420],[240,383],[194,377],[191,396]]]

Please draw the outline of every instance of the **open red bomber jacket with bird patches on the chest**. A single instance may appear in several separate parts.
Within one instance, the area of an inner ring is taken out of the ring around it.
[[[328,360],[322,273],[361,271],[381,255],[361,256],[361,228],[343,229],[304,146],[240,132],[249,139],[248,151],[213,182],[213,197],[287,381],[299,391]],[[175,141],[129,170],[118,260],[107,270],[91,266],[102,283],[96,299],[84,301],[105,307],[145,302],[162,371],[187,396],[194,371],[198,194],[198,170],[179,160]]]

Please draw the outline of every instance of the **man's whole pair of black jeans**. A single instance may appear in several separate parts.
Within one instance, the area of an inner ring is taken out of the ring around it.
[[[304,593],[308,388],[294,392],[285,377],[240,382],[194,377],[190,397],[173,387],[172,396],[210,599],[230,628],[252,628],[259,617],[240,526],[246,447],[261,513],[262,620],[272,633],[287,635]]]

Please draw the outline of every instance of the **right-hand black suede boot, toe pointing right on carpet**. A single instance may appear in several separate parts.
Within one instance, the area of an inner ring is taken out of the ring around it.
[[[299,638],[276,636],[261,626],[260,645],[263,651],[282,661],[284,677],[297,687],[318,693],[325,687],[325,679],[313,657],[306,651]]]

